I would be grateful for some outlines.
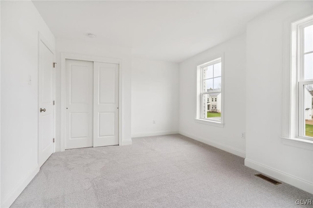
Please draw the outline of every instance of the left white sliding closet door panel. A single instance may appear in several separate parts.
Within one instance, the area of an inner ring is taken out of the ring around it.
[[[92,146],[93,62],[66,60],[65,148]]]

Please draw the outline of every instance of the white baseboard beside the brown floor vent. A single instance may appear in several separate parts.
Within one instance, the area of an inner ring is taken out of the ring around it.
[[[257,171],[260,171],[270,177],[273,177],[279,181],[282,181],[284,183],[290,184],[291,186],[300,188],[304,191],[307,191],[311,194],[313,194],[313,184],[302,180],[300,178],[297,178],[295,176],[292,176],[288,173],[282,172],[280,170],[277,170],[275,168],[257,163],[255,161],[245,159],[245,166],[250,167],[252,169],[255,169]]]

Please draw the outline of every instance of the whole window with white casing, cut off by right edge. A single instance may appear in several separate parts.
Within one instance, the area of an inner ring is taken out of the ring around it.
[[[284,55],[291,71],[284,71],[282,137],[313,143],[313,15],[286,24],[284,31],[291,37]]]

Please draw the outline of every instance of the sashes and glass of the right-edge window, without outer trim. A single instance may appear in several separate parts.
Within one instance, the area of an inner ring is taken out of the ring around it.
[[[313,20],[296,23],[298,137],[313,139]]]

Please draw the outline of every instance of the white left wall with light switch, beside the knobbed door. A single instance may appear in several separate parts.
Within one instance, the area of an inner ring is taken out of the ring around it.
[[[54,46],[31,1],[1,1],[1,207],[39,170],[38,32]]]

